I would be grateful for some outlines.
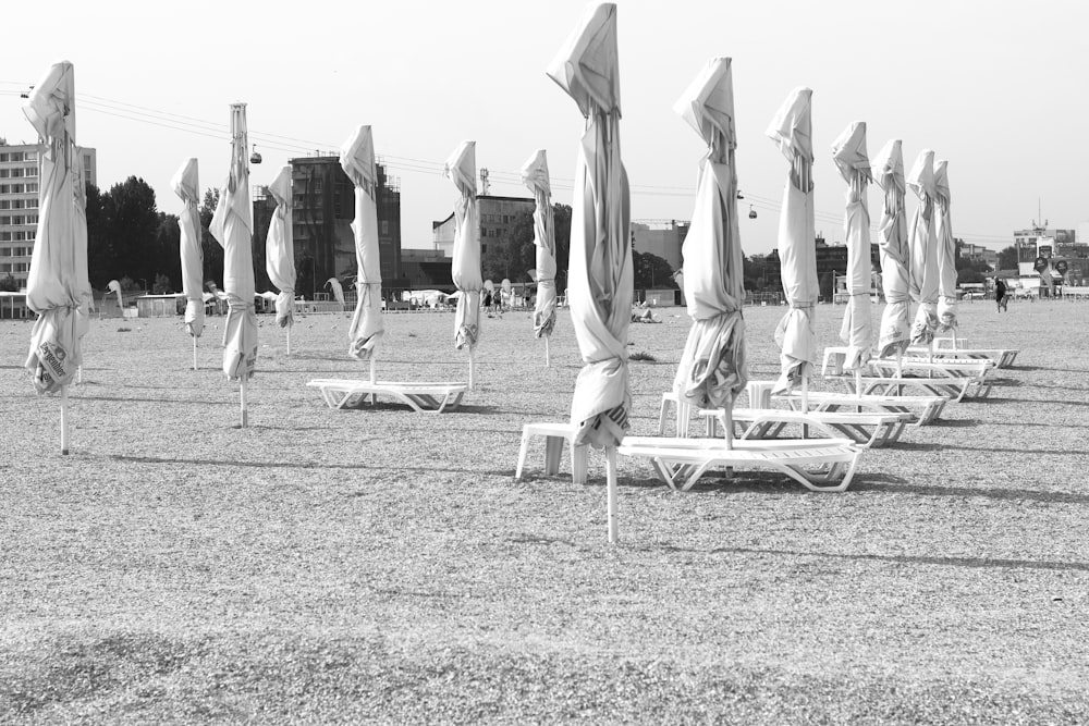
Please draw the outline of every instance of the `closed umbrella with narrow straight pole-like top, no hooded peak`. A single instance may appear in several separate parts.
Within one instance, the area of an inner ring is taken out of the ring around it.
[[[231,170],[220,190],[219,206],[208,231],[223,247],[223,287],[227,322],[223,324],[223,372],[240,382],[242,428],[249,424],[246,390],[257,366],[257,311],[254,297],[254,229],[249,206],[249,167],[246,104],[231,104]]]

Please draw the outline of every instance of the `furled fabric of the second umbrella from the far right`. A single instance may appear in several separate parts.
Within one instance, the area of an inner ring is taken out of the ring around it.
[[[911,342],[929,345],[938,330],[938,237],[934,234],[934,152],[923,149],[907,175],[907,185],[919,197],[911,216],[910,294],[919,308],[911,323]]]

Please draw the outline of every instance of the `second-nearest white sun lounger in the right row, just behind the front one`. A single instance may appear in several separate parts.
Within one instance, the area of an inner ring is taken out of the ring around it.
[[[707,422],[707,435],[714,436],[718,427],[726,428],[726,415],[722,409],[705,408],[697,411]],[[741,439],[775,439],[787,426],[800,426],[807,430],[806,439],[813,430],[829,439],[847,438],[865,448],[878,448],[900,439],[904,427],[914,420],[909,413],[892,411],[836,411],[809,410],[806,413],[782,408],[734,408],[730,411],[734,432]],[[741,429],[737,432],[737,429]]]

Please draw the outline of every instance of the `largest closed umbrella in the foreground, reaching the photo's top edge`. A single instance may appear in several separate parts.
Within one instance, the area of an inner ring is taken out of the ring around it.
[[[627,331],[632,248],[627,174],[620,149],[616,5],[591,7],[548,67],[586,119],[578,145],[571,217],[567,298],[583,357],[571,422],[575,444],[605,450],[609,541],[616,530],[616,446],[632,409]]]

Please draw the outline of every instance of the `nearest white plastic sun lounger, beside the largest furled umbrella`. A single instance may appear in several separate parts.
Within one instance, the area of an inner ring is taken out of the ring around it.
[[[658,478],[686,491],[711,467],[771,469],[813,491],[851,485],[862,448],[846,439],[743,440],[625,436],[617,454],[650,459]]]

